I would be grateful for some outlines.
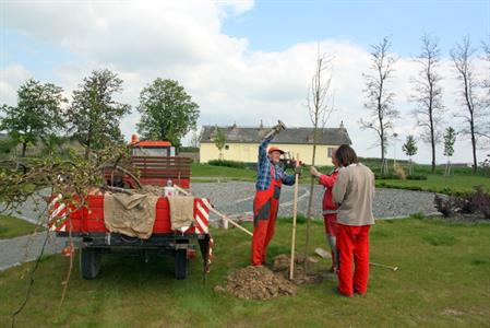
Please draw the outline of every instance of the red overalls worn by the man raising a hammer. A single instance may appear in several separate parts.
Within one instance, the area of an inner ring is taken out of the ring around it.
[[[266,190],[256,190],[253,200],[252,266],[265,262],[267,245],[274,236],[282,180],[276,180],[274,166],[271,165],[271,186]]]

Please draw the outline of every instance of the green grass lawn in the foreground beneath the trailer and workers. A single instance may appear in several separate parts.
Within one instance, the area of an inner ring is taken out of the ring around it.
[[[303,247],[304,224],[298,225]],[[270,256],[289,250],[291,224],[280,222]],[[249,263],[250,237],[238,230],[214,231],[215,260],[206,284],[201,261],[188,280],[172,277],[170,258],[107,257],[100,276],[81,279],[74,268],[64,304],[58,308],[68,258],[45,258],[19,327],[471,327],[490,323],[490,224],[440,219],[379,222],[371,233],[368,294],[344,298],[336,282],[303,285],[295,297],[243,301],[215,293],[227,273]],[[312,248],[325,246],[313,223]],[[316,265],[325,270],[330,262]],[[0,272],[0,327],[23,300],[32,263]]]

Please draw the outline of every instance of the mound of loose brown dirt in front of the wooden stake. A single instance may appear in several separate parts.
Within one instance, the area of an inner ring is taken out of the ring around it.
[[[268,300],[279,295],[296,295],[296,285],[265,267],[247,267],[226,278],[226,286],[217,292],[229,292],[239,298]]]

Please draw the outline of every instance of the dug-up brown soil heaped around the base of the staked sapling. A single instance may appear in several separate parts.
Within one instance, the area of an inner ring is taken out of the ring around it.
[[[303,283],[320,283],[320,274],[304,274],[304,258],[298,256],[295,260],[294,279],[289,280],[290,257],[282,254],[273,259],[271,268],[249,266],[236,270],[226,278],[225,285],[215,286],[216,292],[228,292],[238,298],[268,300],[282,295],[294,296],[297,285]]]

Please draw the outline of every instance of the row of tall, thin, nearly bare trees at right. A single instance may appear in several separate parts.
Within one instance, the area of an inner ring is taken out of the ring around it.
[[[414,58],[418,63],[419,71],[411,77],[413,94],[409,99],[415,105],[413,114],[417,119],[417,125],[421,128],[419,137],[431,147],[432,172],[434,172],[435,150],[444,131],[443,118],[447,115],[447,107],[442,102],[439,40],[423,34],[420,37],[420,52]],[[383,169],[387,168],[385,154],[389,137],[394,129],[395,120],[399,117],[394,102],[395,94],[391,91],[390,84],[396,67],[396,58],[391,52],[391,48],[392,42],[389,36],[379,44],[372,45],[370,70],[362,74],[366,81],[364,107],[369,114],[359,121],[361,129],[370,129],[375,132]],[[481,54],[471,45],[469,36],[463,37],[450,51],[454,74],[459,81],[458,98],[461,102],[454,116],[462,119],[458,131],[451,128],[454,133],[451,138],[461,134],[470,140],[474,171],[478,167],[477,149],[490,145],[490,71],[485,77],[476,74],[477,59],[481,60],[479,63],[486,61],[490,68],[490,36],[488,40],[481,42]],[[415,145],[415,136],[410,136],[408,141],[409,148]],[[406,152],[406,149],[404,151]],[[453,152],[454,150],[450,152],[451,155]],[[411,152],[406,153],[409,155]]]

